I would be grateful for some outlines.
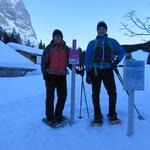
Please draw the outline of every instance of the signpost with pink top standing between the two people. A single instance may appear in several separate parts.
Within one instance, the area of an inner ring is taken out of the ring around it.
[[[77,51],[76,49],[76,43],[77,43],[76,40],[72,41],[72,49],[69,52],[69,64],[72,64],[70,125],[74,123],[75,71],[76,71],[76,64],[79,64],[79,51]]]

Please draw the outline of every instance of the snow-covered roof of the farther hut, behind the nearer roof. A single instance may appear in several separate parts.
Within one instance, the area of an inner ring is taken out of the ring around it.
[[[25,45],[21,45],[21,44],[17,44],[17,43],[7,43],[8,46],[10,46],[11,48],[13,48],[14,50],[21,50],[24,52],[28,52],[30,54],[34,54],[34,55],[42,55],[43,50],[39,49],[39,48],[35,48],[35,47],[29,47],[29,46],[25,46]]]

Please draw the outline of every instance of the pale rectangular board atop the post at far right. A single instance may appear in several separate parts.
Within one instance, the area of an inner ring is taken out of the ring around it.
[[[144,61],[125,60],[123,81],[125,90],[144,90]]]

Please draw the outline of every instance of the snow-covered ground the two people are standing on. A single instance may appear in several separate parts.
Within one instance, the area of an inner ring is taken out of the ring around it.
[[[89,125],[84,101],[83,119],[78,118],[81,79],[77,76],[75,124],[57,130],[41,122],[45,111],[45,86],[41,75],[0,78],[0,150],[148,150],[150,147],[149,67],[146,67],[145,91],[135,92],[135,104],[145,120],[138,120],[135,112],[135,133],[132,137],[126,134],[128,97],[117,78],[117,111],[123,121],[121,125],[111,126],[107,121],[108,97],[103,88],[101,107],[104,125],[101,128]],[[85,86],[92,119],[91,87],[86,83]],[[70,115],[70,75],[64,114]]]

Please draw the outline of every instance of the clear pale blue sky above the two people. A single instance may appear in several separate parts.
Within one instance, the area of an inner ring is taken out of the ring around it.
[[[108,25],[109,37],[120,44],[143,42],[137,37],[125,36],[125,31],[120,31],[121,22],[125,22],[123,16],[130,10],[136,10],[137,16],[145,18],[150,9],[150,0],[24,0],[24,3],[39,40],[48,44],[57,28],[69,46],[77,39],[83,49],[96,37],[96,26],[101,20]]]

